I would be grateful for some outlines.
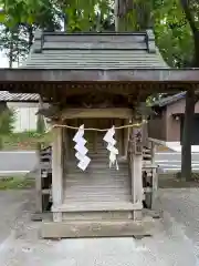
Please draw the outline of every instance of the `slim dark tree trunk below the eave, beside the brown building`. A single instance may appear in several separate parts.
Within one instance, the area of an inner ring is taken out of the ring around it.
[[[185,121],[181,145],[181,177],[186,181],[191,180],[191,139],[192,124],[195,116],[195,91],[186,93]]]

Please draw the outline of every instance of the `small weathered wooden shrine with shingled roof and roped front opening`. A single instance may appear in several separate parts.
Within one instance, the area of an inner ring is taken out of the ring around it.
[[[36,32],[24,65],[0,70],[0,90],[39,93],[51,103],[40,111],[51,120],[53,132],[53,221],[43,222],[43,237],[140,233],[145,227],[143,146],[147,140],[136,108],[156,92],[192,90],[198,80],[199,70],[166,65],[150,30]],[[74,136],[83,125],[91,158],[85,170],[77,166],[74,149]],[[113,126],[118,168],[109,167],[104,141]]]

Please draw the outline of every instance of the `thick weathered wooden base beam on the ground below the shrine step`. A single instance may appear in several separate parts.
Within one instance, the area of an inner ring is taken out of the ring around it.
[[[41,236],[43,238],[78,238],[78,237],[118,237],[118,236],[150,236],[155,224],[133,221],[71,221],[62,223],[43,222]]]

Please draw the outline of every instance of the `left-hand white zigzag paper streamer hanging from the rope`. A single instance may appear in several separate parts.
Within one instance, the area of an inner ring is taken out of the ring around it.
[[[78,127],[78,131],[73,137],[73,141],[76,142],[76,145],[74,149],[76,150],[75,157],[80,161],[77,166],[82,171],[85,171],[91,162],[91,158],[86,155],[88,150],[85,147],[86,140],[83,137],[84,136],[84,125],[81,125]]]

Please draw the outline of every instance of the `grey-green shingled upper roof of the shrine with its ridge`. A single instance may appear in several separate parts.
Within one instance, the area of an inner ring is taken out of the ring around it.
[[[161,69],[168,65],[150,30],[138,33],[36,32],[22,68]]]

